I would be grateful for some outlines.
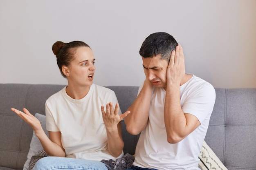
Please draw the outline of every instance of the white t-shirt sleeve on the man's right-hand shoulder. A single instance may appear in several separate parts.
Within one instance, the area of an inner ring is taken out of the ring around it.
[[[211,84],[200,86],[188,94],[182,110],[198,118],[200,123],[209,119],[215,103],[216,93]]]

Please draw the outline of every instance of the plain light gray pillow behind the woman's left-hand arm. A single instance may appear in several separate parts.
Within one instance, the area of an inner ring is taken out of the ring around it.
[[[48,131],[46,130],[46,120],[45,120],[45,115],[36,113],[35,117],[40,121],[43,130],[45,131],[46,135],[48,135]],[[29,148],[29,153],[27,154],[27,161],[25,162],[23,166],[23,170],[28,170],[29,169],[29,161],[32,156],[35,156],[40,150],[43,149],[43,146],[41,145],[38,137],[36,136],[35,132],[33,131],[33,136],[30,142],[30,148]]]

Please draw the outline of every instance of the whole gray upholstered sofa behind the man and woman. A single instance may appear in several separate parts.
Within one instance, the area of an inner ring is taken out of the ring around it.
[[[63,85],[0,84],[0,170],[22,169],[33,130],[10,108],[45,114],[45,100]],[[137,96],[137,86],[108,86],[124,112]],[[138,135],[124,122],[124,152],[134,154]],[[229,170],[256,170],[256,88],[216,88],[216,103],[205,141]]]

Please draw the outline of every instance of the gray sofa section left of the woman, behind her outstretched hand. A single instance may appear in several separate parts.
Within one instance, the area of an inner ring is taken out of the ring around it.
[[[11,108],[45,115],[45,101],[63,85],[0,84],[0,167],[23,169],[33,130]],[[0,168],[1,169],[1,168]]]

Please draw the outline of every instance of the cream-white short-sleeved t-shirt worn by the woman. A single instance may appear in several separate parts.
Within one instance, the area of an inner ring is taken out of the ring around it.
[[[109,102],[115,107],[115,92],[95,84],[90,86],[83,99],[71,98],[66,93],[66,87],[47,99],[46,127],[48,131],[61,132],[66,157],[97,161],[116,159],[108,151],[107,132],[101,113],[101,106],[106,109]]]

